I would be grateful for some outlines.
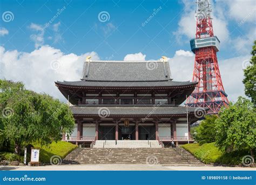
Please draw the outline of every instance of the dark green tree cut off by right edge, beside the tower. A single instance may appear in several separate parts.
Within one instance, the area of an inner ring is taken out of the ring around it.
[[[256,40],[252,46],[252,58],[250,60],[249,66],[244,69],[244,80],[242,83],[245,84],[245,94],[252,98],[252,102],[255,106],[256,104]]]

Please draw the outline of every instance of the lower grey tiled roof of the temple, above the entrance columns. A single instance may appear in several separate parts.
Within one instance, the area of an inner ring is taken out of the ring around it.
[[[75,115],[100,115],[105,113],[108,116],[122,115],[180,115],[186,114],[186,107],[171,105],[78,105],[71,106]],[[188,113],[195,112],[196,107],[187,107]],[[206,113],[207,108],[201,109]]]

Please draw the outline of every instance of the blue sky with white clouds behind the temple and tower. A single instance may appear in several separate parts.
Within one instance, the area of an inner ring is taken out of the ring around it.
[[[194,1],[174,0],[1,0],[1,78],[22,80],[28,88],[62,98],[52,82],[77,80],[75,78],[80,76],[78,73],[82,68],[82,62],[78,61],[85,57],[85,53],[93,52],[95,59],[102,60],[110,57],[113,60],[125,57],[150,60],[167,56],[173,78],[191,80],[194,56],[190,52],[189,40],[196,31],[195,5]],[[247,65],[245,60],[250,58],[256,38],[255,8],[254,1],[212,2],[213,29],[221,42],[218,52],[220,72],[232,100],[239,94],[243,95],[242,68]],[[11,20],[4,18],[6,12],[11,12]],[[60,13],[54,18],[57,12]],[[106,20],[99,18],[101,13],[105,13]],[[145,23],[146,20],[149,21]],[[49,25],[45,26],[46,23]],[[62,67],[57,72],[51,71],[46,61],[48,58],[58,60]],[[10,72],[11,61],[12,67],[16,64],[17,71],[23,68],[27,73],[15,72],[15,69]],[[67,73],[71,64],[77,65],[74,66],[76,69]],[[38,68],[44,71],[42,76],[31,72]],[[48,74],[52,78],[45,78]],[[39,87],[36,80],[42,78],[49,81],[42,80],[44,85]],[[240,81],[237,87],[235,80]],[[236,88],[240,89],[239,92]]]

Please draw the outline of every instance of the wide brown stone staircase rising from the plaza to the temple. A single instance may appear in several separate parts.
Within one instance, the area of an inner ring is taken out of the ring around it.
[[[65,160],[64,160],[65,161]],[[65,163],[68,163],[65,161]],[[184,158],[172,148],[82,148],[69,163],[96,164],[147,164],[172,166],[201,166],[202,162],[190,154]]]

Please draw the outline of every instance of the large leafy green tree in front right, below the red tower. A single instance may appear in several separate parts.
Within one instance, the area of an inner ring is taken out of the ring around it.
[[[239,97],[235,104],[219,112],[216,123],[216,145],[223,152],[247,150],[254,157],[256,113],[252,102]]]

